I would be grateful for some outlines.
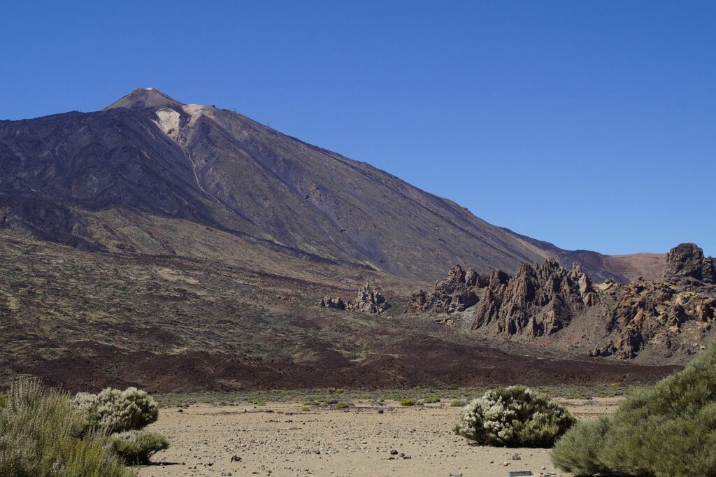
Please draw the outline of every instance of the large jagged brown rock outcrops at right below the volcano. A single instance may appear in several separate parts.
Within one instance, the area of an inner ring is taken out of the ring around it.
[[[408,313],[435,312],[437,321],[469,322],[473,332],[498,340],[548,343],[622,360],[684,362],[712,336],[716,317],[716,271],[695,244],[667,254],[662,278],[594,284],[574,264],[556,259],[523,264],[514,276],[450,269],[434,291],[412,295]]]

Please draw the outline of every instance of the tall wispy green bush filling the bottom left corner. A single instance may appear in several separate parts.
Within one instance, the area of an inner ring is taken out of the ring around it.
[[[68,395],[37,380],[11,385],[0,410],[0,476],[128,477],[104,435]]]

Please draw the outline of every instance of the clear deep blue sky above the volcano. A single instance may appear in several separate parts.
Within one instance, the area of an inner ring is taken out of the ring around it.
[[[0,117],[233,108],[567,249],[716,255],[714,1],[16,1]]]

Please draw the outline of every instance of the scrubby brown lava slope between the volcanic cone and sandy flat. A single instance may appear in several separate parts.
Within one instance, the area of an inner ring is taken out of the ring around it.
[[[30,374],[72,390],[155,391],[633,384],[674,369],[507,354],[402,315],[409,290],[424,284],[291,256],[261,269],[276,252],[213,234],[199,246],[231,259],[97,254],[0,233],[0,382]],[[315,304],[326,291],[354,297],[364,281],[379,284],[400,316]]]

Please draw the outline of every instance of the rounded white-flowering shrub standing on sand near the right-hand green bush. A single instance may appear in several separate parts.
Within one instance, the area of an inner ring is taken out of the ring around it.
[[[453,430],[481,445],[551,447],[575,422],[541,392],[510,386],[485,392],[466,405]]]

